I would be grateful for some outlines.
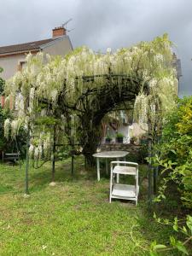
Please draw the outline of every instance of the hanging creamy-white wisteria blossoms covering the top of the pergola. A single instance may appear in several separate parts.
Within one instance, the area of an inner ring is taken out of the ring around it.
[[[100,90],[106,83],[104,76],[111,73],[141,81],[141,91],[136,96],[135,117],[140,122],[146,122],[150,112],[151,119],[154,119],[156,98],[159,99],[162,112],[166,112],[173,107],[177,95],[171,46],[164,35],[152,42],[142,42],[131,48],[118,49],[114,53],[109,48],[106,54],[102,54],[81,47],[64,58],[50,57],[43,53],[27,55],[26,67],[6,83],[6,104],[9,108],[16,108],[17,118],[11,124],[6,120],[5,136],[9,136],[11,127],[11,135],[15,137],[21,125],[30,129],[32,136],[37,130],[40,133],[37,119],[51,117],[61,104],[59,96],[68,106],[73,106],[84,91],[93,88]],[[90,83],[84,83],[84,77],[93,79]],[[148,93],[143,90],[144,84],[148,84]],[[120,94],[122,84],[118,86]],[[90,104],[94,97],[90,96]],[[58,118],[63,120],[63,113]],[[74,122],[78,119],[72,120]],[[48,148],[48,141],[45,138],[43,140],[44,143],[39,139],[38,145],[30,147],[31,154],[36,158],[39,158],[44,148]]]

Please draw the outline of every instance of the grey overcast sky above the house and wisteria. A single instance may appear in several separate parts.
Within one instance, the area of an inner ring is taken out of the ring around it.
[[[164,32],[182,61],[180,95],[192,95],[192,0],[0,0],[0,46],[51,37],[67,29],[73,47],[113,50]]]

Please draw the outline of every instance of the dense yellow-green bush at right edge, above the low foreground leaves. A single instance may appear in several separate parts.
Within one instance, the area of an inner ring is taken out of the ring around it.
[[[173,181],[181,194],[183,205],[192,208],[192,97],[179,100],[177,109],[166,119],[161,143],[160,155],[154,157],[154,163],[166,172],[163,186]],[[161,187],[162,189],[162,187]],[[163,194],[163,190],[162,193]]]

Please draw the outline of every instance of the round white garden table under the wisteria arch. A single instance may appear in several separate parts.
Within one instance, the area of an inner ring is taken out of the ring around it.
[[[108,172],[108,159],[116,159],[119,161],[120,158],[124,158],[129,154],[127,151],[102,151],[96,154],[93,154],[96,157],[96,171],[97,171],[97,180],[100,181],[100,159],[106,159],[106,172]],[[117,175],[117,183],[119,183],[119,174]]]

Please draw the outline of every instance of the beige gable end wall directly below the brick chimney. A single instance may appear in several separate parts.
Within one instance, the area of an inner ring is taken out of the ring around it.
[[[72,51],[72,44],[69,38],[65,38],[64,40],[58,40],[54,44],[49,44],[43,49],[44,53],[48,53],[49,55],[67,55],[70,51]]]

